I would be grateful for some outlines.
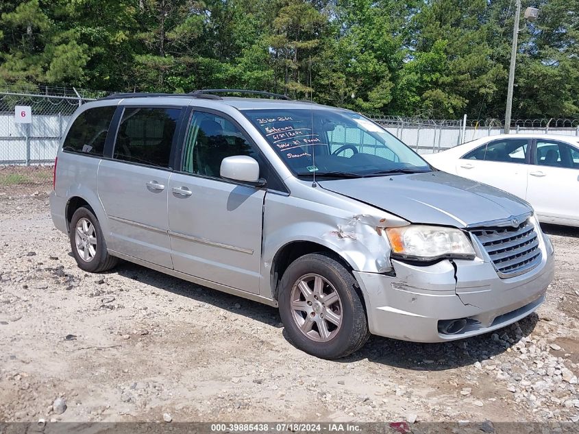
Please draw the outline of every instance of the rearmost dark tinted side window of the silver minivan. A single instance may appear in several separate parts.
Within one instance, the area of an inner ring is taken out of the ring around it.
[[[75,119],[62,145],[63,151],[103,156],[108,127],[116,107],[85,110]]]

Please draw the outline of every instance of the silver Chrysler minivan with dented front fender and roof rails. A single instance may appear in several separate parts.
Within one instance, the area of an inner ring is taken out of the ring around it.
[[[433,169],[356,112],[220,95],[78,108],[50,203],[80,268],[121,258],[277,306],[327,359],[370,333],[480,335],[545,299],[553,248],[523,200]]]

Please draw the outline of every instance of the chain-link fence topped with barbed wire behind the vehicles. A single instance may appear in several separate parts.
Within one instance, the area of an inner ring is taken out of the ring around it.
[[[72,114],[108,92],[47,86],[0,87],[0,195],[42,194],[51,189],[52,164]],[[30,108],[30,122],[16,122],[15,108]],[[420,154],[504,132],[499,119],[419,119],[369,116]],[[579,119],[517,119],[511,133],[579,136]],[[14,193],[16,192],[16,193]]]

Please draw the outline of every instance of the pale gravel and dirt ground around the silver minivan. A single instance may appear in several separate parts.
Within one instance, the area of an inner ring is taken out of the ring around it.
[[[579,420],[579,230],[545,228],[556,279],[526,320],[324,361],[269,306],[130,263],[82,272],[42,194],[0,193],[0,221],[0,421]]]

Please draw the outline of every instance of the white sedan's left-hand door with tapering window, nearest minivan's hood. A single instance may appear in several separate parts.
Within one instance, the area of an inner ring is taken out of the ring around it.
[[[478,147],[458,160],[456,173],[525,198],[528,139],[502,138]]]

